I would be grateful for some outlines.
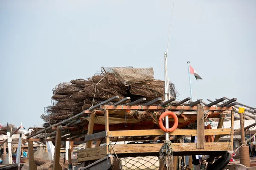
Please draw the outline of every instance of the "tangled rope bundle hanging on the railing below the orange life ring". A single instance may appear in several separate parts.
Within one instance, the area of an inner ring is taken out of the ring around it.
[[[172,164],[172,158],[173,158],[173,149],[172,149],[172,142],[171,141],[165,141],[163,146],[161,147],[159,151],[159,161],[163,161],[164,165],[167,167],[167,170],[173,170],[173,164]]]

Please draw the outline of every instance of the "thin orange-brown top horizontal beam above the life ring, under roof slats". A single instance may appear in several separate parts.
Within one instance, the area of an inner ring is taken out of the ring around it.
[[[191,110],[197,110],[197,106],[184,106],[183,108],[181,108],[181,106],[167,106],[167,107],[163,107],[160,105],[157,106],[108,106],[108,105],[101,105],[100,106],[101,109],[123,109],[123,110],[161,110],[161,109],[170,109],[171,111],[174,110],[187,110],[187,111],[191,111]],[[204,106],[204,110],[205,111],[232,111],[233,108],[231,107],[207,107]]]

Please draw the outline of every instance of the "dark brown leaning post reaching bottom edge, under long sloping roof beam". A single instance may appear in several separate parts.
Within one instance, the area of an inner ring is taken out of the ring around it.
[[[56,132],[55,138],[55,152],[53,159],[53,170],[61,170],[60,162],[60,153],[61,153],[61,129],[58,129]]]

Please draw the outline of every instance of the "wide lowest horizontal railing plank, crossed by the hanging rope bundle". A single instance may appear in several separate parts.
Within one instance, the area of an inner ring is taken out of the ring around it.
[[[115,144],[112,145],[117,154],[119,153],[159,153],[163,144]],[[226,151],[231,150],[230,142],[213,143],[206,142],[204,149],[198,149],[196,143],[172,143],[174,152],[189,151]],[[111,154],[114,151],[111,148]]]

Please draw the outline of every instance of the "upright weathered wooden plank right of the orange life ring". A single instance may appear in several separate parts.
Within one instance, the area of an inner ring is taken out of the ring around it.
[[[204,108],[198,105],[197,149],[204,149]]]

